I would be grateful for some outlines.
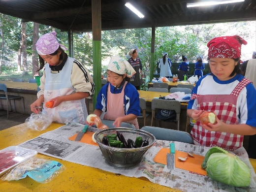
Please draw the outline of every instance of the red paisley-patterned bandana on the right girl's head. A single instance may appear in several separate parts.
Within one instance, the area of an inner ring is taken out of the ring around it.
[[[231,58],[241,56],[241,45],[247,41],[238,35],[215,37],[207,43],[208,58]]]

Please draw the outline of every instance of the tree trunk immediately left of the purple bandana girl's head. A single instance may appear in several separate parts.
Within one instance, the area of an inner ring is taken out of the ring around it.
[[[33,77],[34,76],[39,76],[39,69],[38,67],[38,57],[37,57],[37,52],[35,49],[35,43],[38,40],[38,31],[39,31],[39,24],[38,23],[33,23],[33,43],[32,43],[32,71],[33,71]]]

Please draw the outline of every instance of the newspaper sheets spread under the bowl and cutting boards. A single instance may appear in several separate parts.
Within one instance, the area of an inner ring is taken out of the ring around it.
[[[249,166],[251,170],[251,184],[250,187],[237,188],[214,181],[208,176],[179,168],[169,170],[166,165],[156,163],[153,160],[154,157],[161,148],[169,148],[170,141],[157,140],[144,155],[142,161],[136,166],[129,168],[111,166],[105,161],[98,146],[68,140],[69,137],[81,131],[83,127],[84,125],[81,124],[67,123],[63,127],[43,133],[19,146],[36,150],[38,153],[47,156],[99,168],[112,173],[119,173],[128,177],[146,177],[153,183],[184,192],[256,192],[256,174],[243,147],[233,151],[233,153]],[[99,129],[89,126],[88,131],[97,132]],[[179,151],[192,152],[201,156],[205,156],[206,152],[210,149],[210,147],[181,142],[175,142],[175,148]]]

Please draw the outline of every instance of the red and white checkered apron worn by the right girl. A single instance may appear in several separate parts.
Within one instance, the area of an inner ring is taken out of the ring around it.
[[[243,78],[230,95],[192,95],[192,99],[197,98],[197,109],[216,113],[218,119],[226,124],[238,124],[236,119],[236,102],[241,90],[251,83]],[[226,132],[209,131],[201,127],[200,121],[194,124],[191,131],[195,144],[202,146],[219,146],[224,149],[234,150],[243,145],[243,135]]]

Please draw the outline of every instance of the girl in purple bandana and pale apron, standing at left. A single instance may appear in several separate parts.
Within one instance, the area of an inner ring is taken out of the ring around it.
[[[39,109],[35,107],[43,102],[42,113],[51,115],[53,121],[85,124],[88,116],[85,98],[92,97],[95,91],[91,75],[82,64],[67,56],[55,31],[42,35],[35,46],[39,70],[44,68],[44,72],[40,78],[41,90],[31,104],[32,112],[38,114]],[[45,106],[47,101],[54,101],[51,108]]]

